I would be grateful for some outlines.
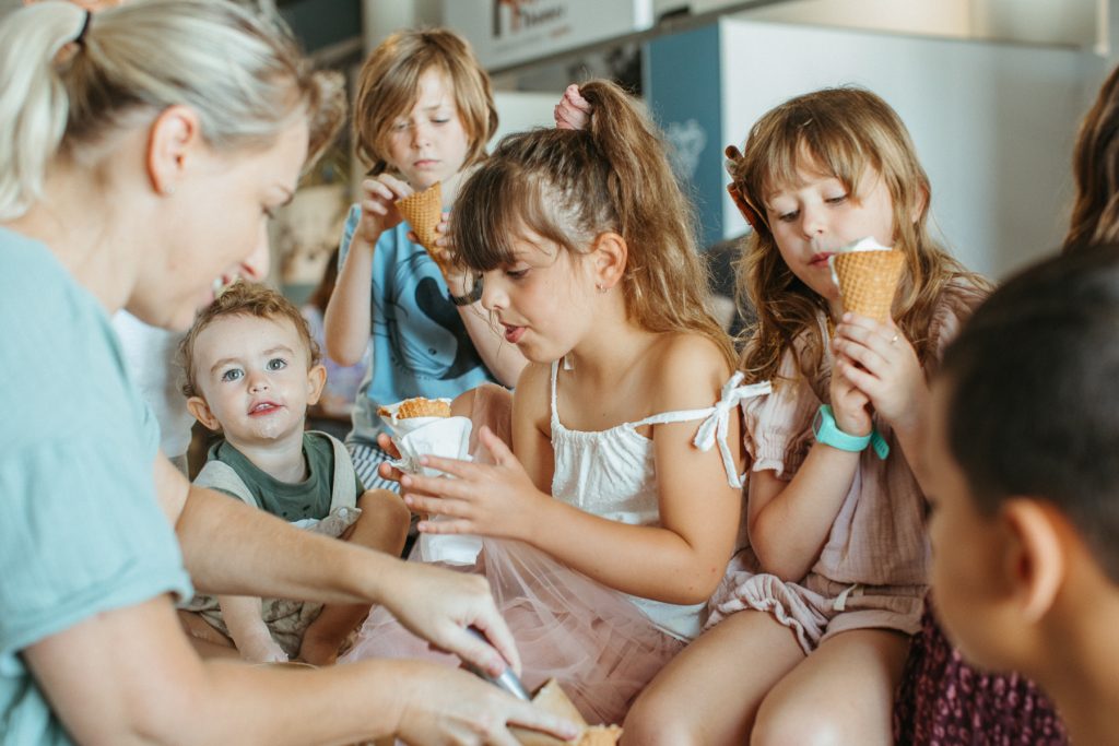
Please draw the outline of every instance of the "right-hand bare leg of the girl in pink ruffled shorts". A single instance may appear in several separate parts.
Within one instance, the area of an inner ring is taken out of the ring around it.
[[[909,636],[852,630],[826,640],[773,688],[751,744],[893,744],[894,690]]]

